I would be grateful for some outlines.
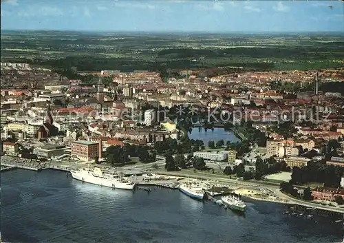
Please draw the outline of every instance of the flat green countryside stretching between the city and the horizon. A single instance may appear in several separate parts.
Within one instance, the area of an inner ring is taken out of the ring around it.
[[[343,65],[343,34],[1,32],[1,61],[80,71],[244,67],[307,70]]]

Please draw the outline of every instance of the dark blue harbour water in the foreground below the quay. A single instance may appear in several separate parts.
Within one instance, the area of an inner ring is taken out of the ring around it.
[[[59,171],[1,173],[1,233],[8,242],[341,242],[327,221],[246,201],[244,216],[169,189],[112,190]]]

